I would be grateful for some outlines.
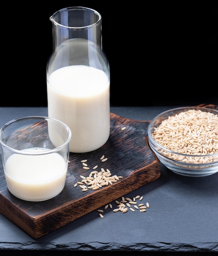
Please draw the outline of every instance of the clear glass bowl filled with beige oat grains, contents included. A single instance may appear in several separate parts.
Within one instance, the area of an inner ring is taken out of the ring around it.
[[[150,122],[148,141],[159,160],[175,173],[206,176],[218,171],[217,110],[167,110]]]

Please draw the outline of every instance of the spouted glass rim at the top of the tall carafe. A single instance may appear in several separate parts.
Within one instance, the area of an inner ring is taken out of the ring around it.
[[[72,11],[74,9],[77,9],[77,10],[86,10],[86,11],[90,11],[92,13],[95,13],[97,16],[98,16],[98,20],[90,25],[86,25],[86,26],[82,26],[82,27],[71,27],[71,26],[65,26],[63,24],[60,24],[59,22],[57,22],[55,20],[55,16],[59,13],[63,13],[64,11]],[[97,25],[99,22],[101,22],[101,14],[96,11],[95,9],[92,9],[92,8],[89,8],[89,7],[83,7],[83,6],[72,6],[72,7],[66,7],[66,8],[62,8],[58,11],[55,11],[55,13],[53,13],[53,15],[50,16],[49,20],[51,20],[51,22],[53,22],[55,25],[59,26],[59,27],[64,27],[64,28],[67,28],[67,29],[87,29],[87,28],[90,28],[90,27],[93,27],[95,25]]]

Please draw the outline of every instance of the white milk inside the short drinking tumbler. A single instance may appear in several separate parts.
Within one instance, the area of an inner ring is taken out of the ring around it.
[[[66,161],[58,153],[13,154],[4,166],[9,191],[26,201],[43,201],[58,195],[64,189],[66,172]]]

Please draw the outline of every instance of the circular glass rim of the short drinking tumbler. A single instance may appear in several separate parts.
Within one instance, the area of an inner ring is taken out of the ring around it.
[[[15,148],[11,148],[7,144],[5,144],[4,141],[2,140],[2,132],[5,130],[5,128],[7,128],[10,124],[13,124],[17,121],[28,120],[28,119],[29,120],[38,119],[38,120],[44,120],[44,121],[47,121],[48,119],[53,120],[56,123],[61,124],[66,129],[66,131],[68,133],[68,137],[61,146],[55,147],[53,149],[40,151],[40,152],[22,151],[22,150],[18,150],[18,149],[15,149]],[[52,117],[46,117],[46,116],[26,116],[26,117],[19,117],[19,118],[16,118],[16,119],[12,119],[11,121],[8,121],[6,124],[4,124],[0,128],[0,144],[1,144],[1,146],[4,146],[8,150],[13,151],[14,153],[22,154],[22,155],[47,155],[47,154],[50,154],[50,153],[55,153],[55,152],[59,151],[60,149],[64,148],[70,142],[71,135],[72,134],[71,134],[70,128],[64,122],[62,122],[58,119],[55,119],[55,118],[52,118]]]

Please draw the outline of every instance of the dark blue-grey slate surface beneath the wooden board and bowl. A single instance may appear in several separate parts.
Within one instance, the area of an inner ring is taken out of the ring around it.
[[[173,107],[112,107],[111,112],[130,119],[151,120],[170,108]],[[0,126],[27,115],[47,115],[47,108],[0,108]],[[218,173],[193,178],[161,166],[159,179],[124,196],[136,195],[143,196],[141,202],[149,202],[147,212],[114,213],[108,207],[102,219],[95,210],[38,239],[0,214],[0,249],[18,253],[35,250],[41,255],[51,250],[168,252],[165,255],[218,252]]]

